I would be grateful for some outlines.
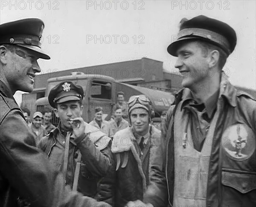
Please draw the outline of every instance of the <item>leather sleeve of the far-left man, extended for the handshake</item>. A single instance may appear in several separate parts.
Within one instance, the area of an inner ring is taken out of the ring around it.
[[[35,147],[35,139],[20,111],[9,112],[1,123],[0,150],[1,176],[30,207],[108,206],[65,187],[62,174]]]

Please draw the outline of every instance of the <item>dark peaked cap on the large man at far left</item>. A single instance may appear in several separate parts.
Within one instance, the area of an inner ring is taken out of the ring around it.
[[[0,25],[0,44],[18,45],[35,51],[38,57],[49,60],[41,49],[44,22],[36,18],[17,20]]]

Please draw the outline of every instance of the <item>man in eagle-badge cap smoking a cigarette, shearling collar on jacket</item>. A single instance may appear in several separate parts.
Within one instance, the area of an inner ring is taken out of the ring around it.
[[[65,183],[84,196],[112,204],[111,139],[81,118],[83,88],[60,82],[49,93],[49,104],[60,122],[39,143],[50,162],[64,173]]]

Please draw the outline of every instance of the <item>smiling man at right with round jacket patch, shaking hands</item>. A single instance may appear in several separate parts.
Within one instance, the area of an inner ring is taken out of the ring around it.
[[[221,72],[236,40],[219,20],[182,20],[167,50],[177,57],[184,88],[163,123],[148,204],[137,205],[256,206],[256,100]]]

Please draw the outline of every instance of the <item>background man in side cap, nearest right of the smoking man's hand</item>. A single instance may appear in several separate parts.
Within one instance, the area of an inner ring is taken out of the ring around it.
[[[98,128],[109,137],[109,122],[102,119],[102,114],[102,108],[96,107],[94,119],[89,124]]]

